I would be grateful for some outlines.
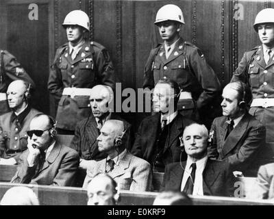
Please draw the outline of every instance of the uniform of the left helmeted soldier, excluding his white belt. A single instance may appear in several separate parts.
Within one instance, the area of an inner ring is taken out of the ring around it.
[[[58,128],[73,131],[76,123],[90,114],[89,96],[62,96],[64,88],[92,88],[97,84],[115,88],[113,64],[101,44],[86,40],[75,60],[69,54],[69,43],[56,51],[48,88],[55,102],[59,102],[56,116]]]

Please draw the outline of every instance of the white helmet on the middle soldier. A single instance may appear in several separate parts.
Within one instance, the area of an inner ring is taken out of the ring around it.
[[[184,24],[184,16],[182,10],[177,5],[164,5],[160,8],[156,14],[156,19],[154,24],[163,21],[177,21]]]

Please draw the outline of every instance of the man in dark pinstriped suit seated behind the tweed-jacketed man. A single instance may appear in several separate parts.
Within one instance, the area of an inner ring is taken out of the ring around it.
[[[112,112],[114,93],[109,86],[97,85],[90,91],[90,107],[92,114],[77,123],[75,136],[71,148],[75,149],[80,156],[80,167],[87,168],[90,160],[100,160],[107,157],[104,152],[99,152],[97,137],[105,121],[110,119],[123,120]],[[131,136],[129,123],[123,120],[128,136]],[[127,146],[131,146],[130,138],[127,139]]]

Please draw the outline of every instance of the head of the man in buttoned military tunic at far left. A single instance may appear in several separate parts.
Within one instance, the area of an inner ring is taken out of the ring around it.
[[[10,109],[20,112],[27,105],[25,92],[27,91],[28,84],[22,80],[12,81],[8,86],[7,96]]]

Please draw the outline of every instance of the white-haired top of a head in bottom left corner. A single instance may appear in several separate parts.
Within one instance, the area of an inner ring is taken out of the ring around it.
[[[32,189],[16,186],[5,192],[0,205],[39,205],[39,201]]]

